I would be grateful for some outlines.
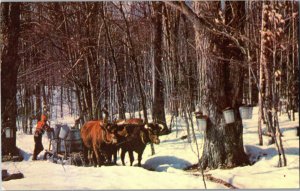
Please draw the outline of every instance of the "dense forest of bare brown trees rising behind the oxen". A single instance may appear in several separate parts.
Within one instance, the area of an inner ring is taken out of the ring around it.
[[[278,115],[299,111],[297,1],[1,3],[1,14],[2,129],[19,119],[32,133],[59,93],[80,124],[107,107],[111,121],[139,111],[166,134],[170,113],[192,141],[199,109],[213,169],[249,163],[241,105],[259,106],[258,143],[266,123],[279,153]],[[238,120],[225,125],[228,107]]]

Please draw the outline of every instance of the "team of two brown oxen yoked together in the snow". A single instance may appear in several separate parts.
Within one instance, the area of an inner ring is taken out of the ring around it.
[[[118,120],[112,123],[107,120],[88,121],[80,130],[85,163],[93,163],[95,167],[104,163],[116,164],[117,153],[121,149],[123,165],[125,165],[125,154],[128,152],[132,166],[133,152],[136,152],[138,166],[141,166],[146,145],[148,143],[159,144],[159,134],[162,129],[163,125],[145,124],[140,118]]]

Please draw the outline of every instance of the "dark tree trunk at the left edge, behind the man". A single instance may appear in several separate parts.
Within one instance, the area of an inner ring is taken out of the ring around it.
[[[3,3],[1,4],[1,12],[3,43],[1,54],[1,125],[2,130],[7,127],[13,129],[13,139],[3,140],[2,138],[2,154],[16,154],[16,94],[19,67],[20,3]]]

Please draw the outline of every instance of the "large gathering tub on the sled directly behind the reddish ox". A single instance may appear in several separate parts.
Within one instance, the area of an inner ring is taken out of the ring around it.
[[[82,151],[82,141],[80,137],[80,130],[75,128],[71,129],[66,140],[67,148],[70,152]]]

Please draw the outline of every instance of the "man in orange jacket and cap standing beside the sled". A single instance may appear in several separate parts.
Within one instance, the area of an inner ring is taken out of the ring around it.
[[[37,160],[38,154],[44,150],[43,144],[42,144],[42,136],[45,131],[53,131],[53,128],[50,128],[47,122],[47,116],[42,115],[41,121],[38,121],[37,126],[35,128],[34,132],[34,151],[33,151],[33,158],[32,160]]]

